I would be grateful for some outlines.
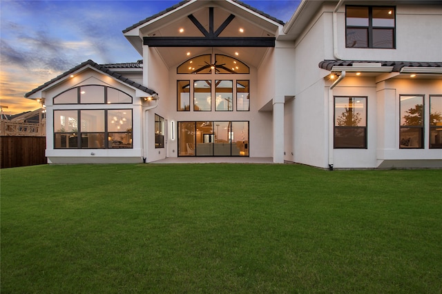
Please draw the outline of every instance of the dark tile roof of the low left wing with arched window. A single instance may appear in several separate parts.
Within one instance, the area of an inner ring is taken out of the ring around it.
[[[119,64],[119,66],[117,66],[117,64]],[[137,66],[140,66],[139,63],[113,63],[113,64],[108,64],[108,65],[100,65],[98,63],[95,63],[92,60],[88,60],[88,61],[84,61],[83,63],[80,63],[78,66],[75,66],[75,68],[71,68],[70,70],[62,73],[61,75],[59,75],[58,77],[55,77],[54,79],[51,79],[50,81],[46,82],[45,84],[39,86],[38,88],[35,88],[34,90],[27,92],[24,97],[28,98],[30,97],[32,94],[35,94],[36,92],[38,92],[39,90],[43,90],[44,88],[46,88],[47,86],[49,86],[50,84],[55,83],[56,81],[59,81],[60,79],[63,79],[64,77],[72,74],[73,72],[76,72],[77,70],[79,70],[80,68],[84,68],[85,66],[92,66],[93,68],[96,68],[97,70],[103,72],[106,75],[109,75],[111,77],[115,77],[115,79],[119,79],[120,81],[123,81],[125,84],[128,84],[129,86],[133,86],[139,90],[142,90],[143,92],[146,92],[148,94],[154,95],[157,94],[157,92],[155,92],[154,90],[151,90],[141,84],[138,84],[135,81],[132,81],[131,79],[127,79],[126,77],[123,77],[122,75],[119,75],[116,72],[113,72],[112,70],[109,70],[108,68],[123,68],[123,65],[126,66],[133,66],[135,67],[135,64]]]

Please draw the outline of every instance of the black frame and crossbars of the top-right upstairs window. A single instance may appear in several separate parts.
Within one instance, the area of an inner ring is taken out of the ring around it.
[[[368,9],[368,25],[367,26],[349,26],[347,23],[347,8],[367,8]],[[394,10],[394,26],[388,27],[388,26],[373,26],[373,8],[392,8]],[[358,6],[358,5],[347,5],[345,6],[345,48],[359,48],[359,49],[396,49],[396,6]],[[367,29],[367,47],[350,47],[347,46],[347,37],[348,29],[357,29],[357,28],[364,28]],[[393,32],[393,39],[392,47],[374,47],[373,43],[373,35],[374,30],[392,30]]]

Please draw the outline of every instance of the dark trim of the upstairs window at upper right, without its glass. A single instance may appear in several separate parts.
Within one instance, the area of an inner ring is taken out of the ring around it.
[[[348,7],[366,7],[368,8],[368,26],[347,26],[347,8]],[[376,26],[376,29],[389,29],[393,30],[393,47],[374,47],[373,46],[373,8],[394,8],[394,27],[381,27]],[[345,6],[345,48],[352,49],[396,49],[396,6],[366,6],[366,5],[346,5]],[[367,47],[347,47],[347,28],[367,28],[368,32],[368,44]]]

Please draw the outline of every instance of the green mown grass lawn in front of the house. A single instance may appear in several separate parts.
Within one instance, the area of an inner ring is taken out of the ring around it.
[[[1,293],[441,293],[442,170],[1,170]]]

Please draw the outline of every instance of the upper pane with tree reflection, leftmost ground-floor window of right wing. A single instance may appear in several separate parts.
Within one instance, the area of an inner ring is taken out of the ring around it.
[[[365,97],[336,97],[335,126],[367,126]]]

